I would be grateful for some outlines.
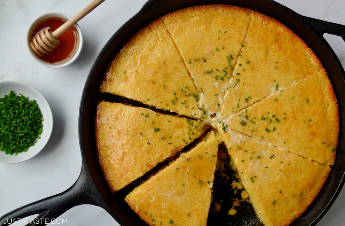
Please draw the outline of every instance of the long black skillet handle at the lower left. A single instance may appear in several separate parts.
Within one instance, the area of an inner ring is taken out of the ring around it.
[[[95,190],[96,189],[96,190]],[[0,225],[7,226],[19,219],[39,214],[27,226],[49,224],[61,214],[74,206],[92,204],[102,206],[98,190],[88,172],[82,170],[75,184],[60,194],[50,196],[37,202],[19,207],[0,217]],[[61,221],[64,219],[60,219]]]

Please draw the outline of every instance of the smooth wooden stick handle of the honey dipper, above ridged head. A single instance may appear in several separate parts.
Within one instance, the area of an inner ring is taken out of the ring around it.
[[[81,18],[85,17],[89,12],[95,9],[99,4],[101,4],[105,0],[94,0],[87,7],[69,19],[66,23],[62,24],[58,29],[52,32],[52,36],[58,38],[63,32],[67,31],[70,27],[72,27],[75,23],[77,23]]]

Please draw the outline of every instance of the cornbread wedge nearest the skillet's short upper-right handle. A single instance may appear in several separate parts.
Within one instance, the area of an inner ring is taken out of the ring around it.
[[[221,108],[224,117],[322,68],[293,31],[264,14],[248,12],[248,33]]]

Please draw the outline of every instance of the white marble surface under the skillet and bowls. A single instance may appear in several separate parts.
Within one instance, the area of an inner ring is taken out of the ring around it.
[[[0,164],[0,215],[19,206],[60,193],[77,179],[81,156],[78,111],[84,82],[98,52],[111,35],[139,11],[146,0],[108,0],[83,18],[82,56],[71,66],[49,69],[36,63],[26,48],[29,24],[41,14],[75,14],[90,0],[0,0],[0,81],[18,80],[37,88],[47,98],[54,117],[48,145],[34,158],[19,164]],[[345,24],[344,0],[278,0],[305,16]],[[343,66],[345,43],[326,35]],[[345,225],[345,188],[317,226]],[[61,218],[69,225],[118,225],[103,209],[81,205]]]

